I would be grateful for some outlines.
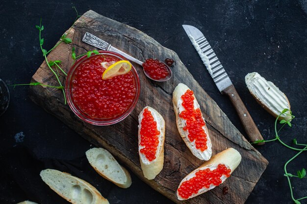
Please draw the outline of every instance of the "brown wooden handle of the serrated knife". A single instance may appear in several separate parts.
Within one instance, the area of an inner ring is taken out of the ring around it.
[[[236,112],[238,113],[241,123],[244,127],[246,134],[250,137],[252,142],[257,140],[262,140],[261,136],[253,118],[250,113],[247,111],[243,101],[241,100],[238,92],[235,90],[234,86],[231,85],[227,87],[222,93],[229,96],[232,105],[234,106]],[[257,145],[262,145],[264,142],[256,143]]]

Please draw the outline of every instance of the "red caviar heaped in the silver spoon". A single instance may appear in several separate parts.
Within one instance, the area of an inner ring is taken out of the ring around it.
[[[170,74],[163,62],[152,58],[147,59],[143,67],[146,73],[155,80],[164,79]]]

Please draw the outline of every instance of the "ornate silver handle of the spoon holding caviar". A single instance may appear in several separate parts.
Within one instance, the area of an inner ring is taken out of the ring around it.
[[[102,50],[109,50],[109,51],[116,52],[116,53],[126,57],[128,60],[135,62],[136,64],[139,64],[140,66],[143,65],[143,62],[139,61],[138,59],[135,59],[134,57],[132,57],[132,56],[128,55],[127,53],[117,49],[116,47],[113,47],[109,43],[105,42],[104,40],[96,37],[95,35],[93,35],[89,32],[86,32],[84,34],[82,41],[84,43],[87,43],[89,45],[92,45],[92,46],[97,47],[97,48],[102,49]]]

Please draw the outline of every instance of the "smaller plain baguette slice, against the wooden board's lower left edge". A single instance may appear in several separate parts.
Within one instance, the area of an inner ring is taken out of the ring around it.
[[[121,188],[128,188],[132,181],[129,172],[103,148],[92,148],[86,151],[86,158],[91,166],[103,178]]]

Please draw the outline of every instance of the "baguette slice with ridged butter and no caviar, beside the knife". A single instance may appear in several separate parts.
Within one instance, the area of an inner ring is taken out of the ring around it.
[[[273,116],[277,117],[284,109],[290,110],[287,96],[257,72],[248,73],[245,76],[245,83],[256,101]],[[290,120],[291,116],[283,113],[279,117],[279,120],[282,119]]]

